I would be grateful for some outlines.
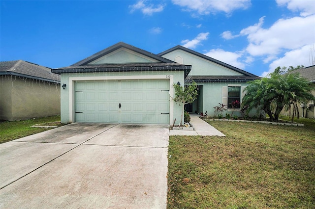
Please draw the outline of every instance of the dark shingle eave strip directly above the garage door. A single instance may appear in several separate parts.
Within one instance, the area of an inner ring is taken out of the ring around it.
[[[98,72],[137,72],[137,71],[184,71],[185,78],[191,70],[191,65],[178,63],[127,63],[80,65],[52,69],[51,72],[62,73],[98,73]]]

